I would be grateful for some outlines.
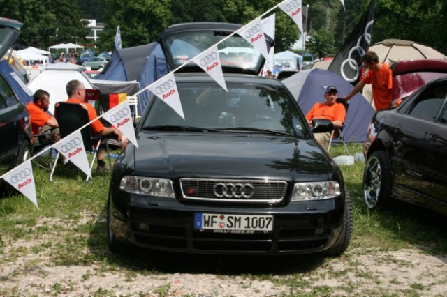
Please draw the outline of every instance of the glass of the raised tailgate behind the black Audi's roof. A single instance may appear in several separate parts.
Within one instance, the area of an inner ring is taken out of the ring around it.
[[[163,43],[177,67],[187,63],[194,56],[207,50],[223,38],[226,38],[226,40],[217,45],[222,66],[249,69],[256,72],[259,63],[263,61],[263,56],[247,40],[238,35],[227,37],[214,31],[180,32],[167,36],[163,39]]]

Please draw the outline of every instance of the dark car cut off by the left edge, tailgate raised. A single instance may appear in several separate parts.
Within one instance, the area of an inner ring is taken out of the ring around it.
[[[0,56],[13,46],[22,24],[0,18]],[[0,75],[0,173],[27,160],[31,155],[29,114],[6,79]]]

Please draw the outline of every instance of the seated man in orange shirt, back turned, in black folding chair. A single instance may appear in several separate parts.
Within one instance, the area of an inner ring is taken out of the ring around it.
[[[96,109],[89,103],[84,102],[85,98],[85,86],[79,80],[71,80],[66,85],[66,92],[68,95],[68,103],[78,103],[87,107],[87,112],[89,115],[89,121],[94,121],[91,123],[91,131],[95,136],[107,136],[107,137],[116,137],[121,144],[126,142],[126,137],[122,135],[119,130],[113,127],[105,127],[101,121],[98,119],[98,115],[96,114]],[[103,172],[108,170],[108,166],[104,161],[105,151],[100,150],[98,152],[98,166],[96,167],[96,171]]]

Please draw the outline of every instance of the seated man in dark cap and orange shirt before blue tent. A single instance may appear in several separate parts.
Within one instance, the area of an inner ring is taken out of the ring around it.
[[[326,86],[324,91],[325,102],[317,102],[306,114],[307,123],[312,126],[313,119],[327,119],[332,121],[334,128],[341,128],[346,118],[346,109],[342,103],[337,102],[337,88]],[[315,133],[316,141],[324,148],[328,146],[331,132]]]

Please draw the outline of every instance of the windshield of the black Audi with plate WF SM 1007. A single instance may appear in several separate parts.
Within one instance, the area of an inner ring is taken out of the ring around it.
[[[279,86],[177,84],[182,119],[163,100],[149,107],[144,130],[193,130],[308,135],[293,98]],[[195,129],[195,130],[200,130]]]

